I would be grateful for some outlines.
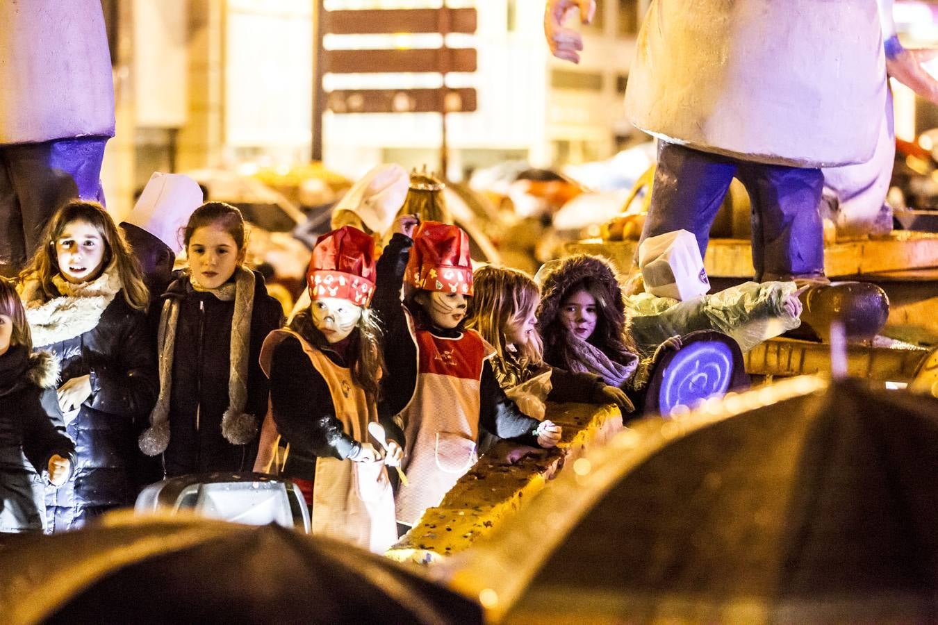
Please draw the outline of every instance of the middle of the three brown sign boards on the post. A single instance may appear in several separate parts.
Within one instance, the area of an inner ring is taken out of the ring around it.
[[[325,57],[333,74],[476,71],[475,48],[329,50]]]

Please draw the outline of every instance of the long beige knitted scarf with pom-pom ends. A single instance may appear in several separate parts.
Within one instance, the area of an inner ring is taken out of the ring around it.
[[[257,435],[257,417],[247,414],[248,360],[250,358],[250,318],[254,310],[254,274],[238,267],[234,285],[225,284],[218,289],[204,289],[189,276],[192,288],[207,291],[219,300],[234,300],[232,331],[229,346],[230,370],[228,374],[228,409],[221,417],[221,434],[233,445],[249,443]],[[176,325],[179,321],[180,300],[167,299],[159,317],[157,346],[159,351],[159,398],[150,412],[150,426],[140,435],[140,450],[147,455],[166,451],[170,442],[170,397],[173,390],[173,357],[175,353]]]

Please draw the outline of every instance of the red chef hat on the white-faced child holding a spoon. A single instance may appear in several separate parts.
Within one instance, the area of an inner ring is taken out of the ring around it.
[[[342,226],[316,239],[306,271],[310,299],[338,297],[367,306],[374,295],[374,239]]]

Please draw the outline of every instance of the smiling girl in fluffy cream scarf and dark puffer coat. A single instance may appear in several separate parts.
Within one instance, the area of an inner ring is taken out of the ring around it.
[[[68,486],[47,491],[49,529],[133,502],[139,452],[133,440],[159,390],[140,269],[100,204],[56,211],[20,276],[33,344],[60,359],[57,406],[77,441]]]

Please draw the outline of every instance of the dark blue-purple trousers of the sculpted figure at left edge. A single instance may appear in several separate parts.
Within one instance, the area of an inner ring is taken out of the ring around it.
[[[0,145],[0,274],[33,255],[53,213],[73,198],[103,201],[108,137]]]

